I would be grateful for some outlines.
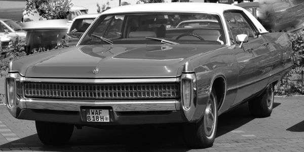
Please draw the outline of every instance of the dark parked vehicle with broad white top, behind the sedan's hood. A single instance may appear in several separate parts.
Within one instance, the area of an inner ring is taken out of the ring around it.
[[[24,22],[26,54],[55,49],[61,44],[67,29],[65,19]]]

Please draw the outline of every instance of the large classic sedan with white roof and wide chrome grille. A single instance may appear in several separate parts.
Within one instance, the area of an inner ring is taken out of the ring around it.
[[[166,28],[169,18],[198,16],[218,26]],[[249,102],[253,116],[271,115],[292,59],[287,34],[240,7],[122,6],[96,18],[77,46],[11,62],[6,103],[35,121],[45,144],[67,142],[74,126],[180,123],[189,147],[210,147],[225,111]]]

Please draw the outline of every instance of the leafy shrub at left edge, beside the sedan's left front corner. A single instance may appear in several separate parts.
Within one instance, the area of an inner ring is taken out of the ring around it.
[[[4,77],[7,74],[9,64],[12,60],[15,60],[19,57],[25,56],[25,42],[24,39],[21,39],[19,36],[16,36],[13,40],[12,47],[9,49],[1,50],[1,59],[0,59],[0,75]]]

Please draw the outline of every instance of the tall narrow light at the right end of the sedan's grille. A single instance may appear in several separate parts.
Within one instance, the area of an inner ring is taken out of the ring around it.
[[[192,90],[192,81],[188,79],[182,80],[182,97],[184,109],[188,109],[190,107]]]

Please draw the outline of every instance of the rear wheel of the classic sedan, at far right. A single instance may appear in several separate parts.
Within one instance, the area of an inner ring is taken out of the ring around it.
[[[248,102],[251,115],[257,118],[269,117],[274,106],[274,86],[270,84],[265,91],[254,100]]]

